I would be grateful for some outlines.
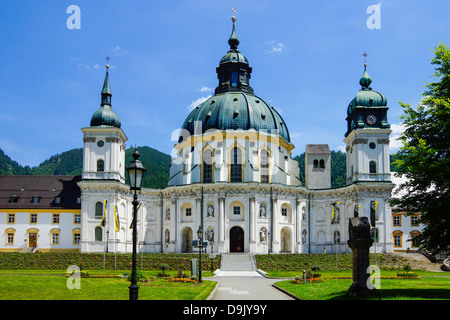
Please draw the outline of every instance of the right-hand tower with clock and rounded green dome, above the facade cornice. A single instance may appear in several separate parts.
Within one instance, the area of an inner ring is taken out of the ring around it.
[[[364,73],[359,80],[361,90],[347,109],[347,185],[355,182],[388,182],[391,180],[389,159],[390,125],[387,121],[386,97],[370,84]]]

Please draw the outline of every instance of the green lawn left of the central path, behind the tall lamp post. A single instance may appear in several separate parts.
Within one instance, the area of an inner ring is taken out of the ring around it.
[[[124,272],[127,273],[127,272]],[[120,274],[90,272],[90,274]],[[151,273],[145,273],[150,275]],[[176,272],[171,272],[176,274]],[[2,300],[128,300],[130,282],[126,278],[81,278],[80,289],[69,289],[64,271],[4,270],[0,273]],[[173,283],[153,279],[138,283],[140,300],[205,300],[216,282]]]

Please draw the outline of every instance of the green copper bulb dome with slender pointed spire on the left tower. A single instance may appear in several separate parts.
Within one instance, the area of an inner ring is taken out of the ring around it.
[[[91,127],[116,127],[120,128],[120,119],[111,108],[111,88],[109,86],[109,74],[106,66],[105,81],[102,89],[102,103],[100,108],[94,112],[91,118]]]

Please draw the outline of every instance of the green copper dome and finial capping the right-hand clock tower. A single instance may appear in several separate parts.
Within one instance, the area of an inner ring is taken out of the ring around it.
[[[372,78],[367,73],[366,68],[364,68],[364,74],[359,80],[361,85],[361,90],[356,94],[356,97],[348,105],[347,115],[352,113],[355,107],[385,107],[387,106],[387,99],[381,92],[372,90],[370,84],[372,83]]]

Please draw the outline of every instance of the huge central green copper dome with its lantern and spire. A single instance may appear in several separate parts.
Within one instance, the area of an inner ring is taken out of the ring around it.
[[[266,131],[290,142],[288,128],[280,114],[253,94],[249,83],[252,68],[238,50],[240,41],[236,35],[234,16],[232,21],[233,30],[228,40],[230,50],[216,68],[219,85],[215,89],[215,95],[191,111],[182,129],[191,135],[214,129]],[[179,142],[183,139],[181,135]]]

